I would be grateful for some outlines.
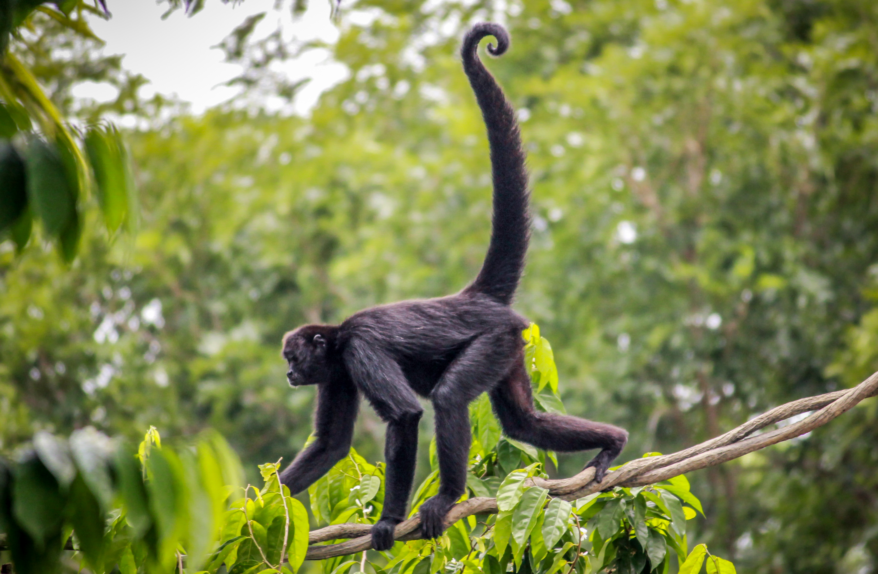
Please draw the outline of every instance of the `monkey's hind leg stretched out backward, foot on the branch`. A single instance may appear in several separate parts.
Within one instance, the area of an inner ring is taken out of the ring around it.
[[[490,396],[503,432],[516,441],[560,452],[601,448],[585,467],[594,466],[594,480],[599,483],[628,442],[628,431],[623,428],[565,414],[537,412],[523,361],[493,388]]]

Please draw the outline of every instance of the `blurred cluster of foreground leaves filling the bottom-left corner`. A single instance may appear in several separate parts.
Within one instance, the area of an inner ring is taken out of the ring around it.
[[[60,571],[71,531],[83,567],[96,573],[170,571],[180,548],[198,566],[227,523],[228,485],[241,480],[217,434],[172,449],[150,429],[136,456],[91,427],[69,440],[37,434],[32,445],[0,478],[0,527],[21,574]]]

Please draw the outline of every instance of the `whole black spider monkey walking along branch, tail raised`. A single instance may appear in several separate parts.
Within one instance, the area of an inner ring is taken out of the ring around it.
[[[341,325],[306,325],[284,335],[286,376],[292,386],[316,384],[316,439],[281,475],[291,493],[305,490],[347,456],[363,395],[387,424],[385,503],[371,529],[372,546],[393,545],[393,529],[406,518],[414,478],[418,396],[435,410],[440,486],[421,505],[421,533],[442,535],[443,519],[464,493],[471,436],[468,405],[487,392],[504,433],[537,448],[601,448],[587,467],[601,482],[622,451],[622,428],[534,408],[524,365],[527,321],[510,308],[522,276],[529,240],[528,175],[515,111],[479,60],[479,40],[499,56],[509,47],[500,25],[474,25],[464,37],[464,72],[482,111],[491,149],[493,225],[485,262],[456,295],[401,301],[357,312]]]

